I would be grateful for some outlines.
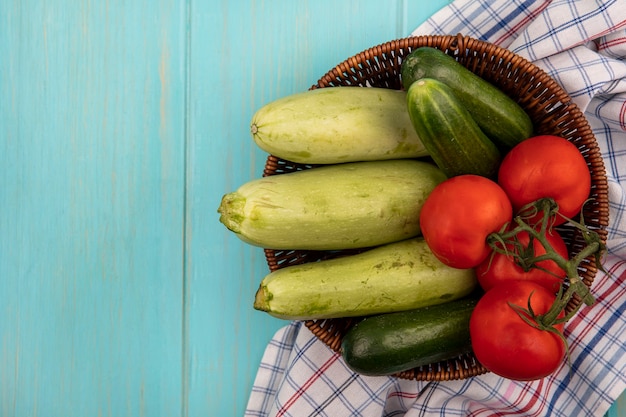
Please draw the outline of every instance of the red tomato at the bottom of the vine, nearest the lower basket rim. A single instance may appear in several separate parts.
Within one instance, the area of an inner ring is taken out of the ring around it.
[[[530,381],[552,374],[562,363],[566,346],[559,335],[526,323],[509,303],[535,314],[547,312],[555,294],[533,282],[509,281],[487,291],[470,318],[470,337],[476,359],[505,378]],[[555,326],[560,332],[563,324]]]

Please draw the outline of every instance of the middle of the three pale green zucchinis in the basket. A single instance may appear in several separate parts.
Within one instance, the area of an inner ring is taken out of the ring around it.
[[[264,248],[377,246],[419,235],[422,205],[445,179],[412,159],[325,165],[252,180],[224,195],[218,212],[240,239]]]

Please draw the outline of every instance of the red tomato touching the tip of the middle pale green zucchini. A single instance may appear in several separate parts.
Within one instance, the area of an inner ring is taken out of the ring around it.
[[[487,236],[512,219],[511,202],[494,181],[458,175],[440,183],[420,212],[424,240],[453,268],[474,268],[490,253]]]

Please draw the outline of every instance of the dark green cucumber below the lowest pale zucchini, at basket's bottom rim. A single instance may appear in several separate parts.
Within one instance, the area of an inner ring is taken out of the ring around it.
[[[478,297],[367,317],[344,335],[341,355],[363,375],[392,375],[472,349],[469,320]]]

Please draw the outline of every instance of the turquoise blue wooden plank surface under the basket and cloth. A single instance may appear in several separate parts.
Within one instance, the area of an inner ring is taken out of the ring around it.
[[[0,416],[242,415],[285,324],[216,213],[251,116],[447,3],[0,2]]]

